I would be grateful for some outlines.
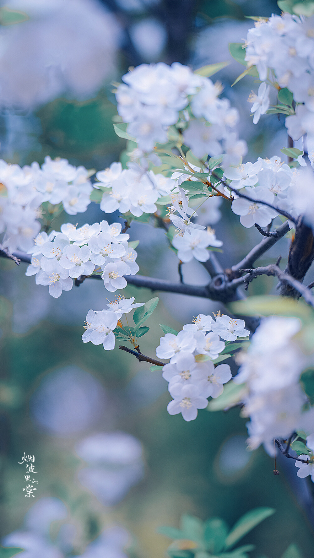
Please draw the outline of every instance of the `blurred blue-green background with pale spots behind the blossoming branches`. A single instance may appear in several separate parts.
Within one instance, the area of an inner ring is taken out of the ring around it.
[[[112,125],[113,84],[129,66],[179,61],[196,69],[232,60],[228,43],[243,41],[253,25],[245,16],[280,13],[271,0],[8,0],[0,7],[1,158],[29,165],[50,155],[96,170],[118,161],[126,148]],[[247,98],[257,84],[247,76],[231,88],[241,71],[232,60],[214,81],[240,112],[247,160],[280,155],[287,144],[283,116],[262,117],[253,126]],[[218,254],[224,267],[259,242],[259,233],[248,233],[223,204],[207,218],[224,241]],[[61,214],[59,224],[102,219],[112,223],[118,215],[106,216],[91,203],[85,214]],[[129,232],[140,241],[142,275],[178,280],[177,258],[161,229],[132,223]],[[281,253],[284,259],[287,251],[282,239],[267,258]],[[170,541],[156,528],[177,527],[182,513],[219,516],[231,526],[249,509],[270,506],[276,514],[243,540],[257,545],[252,556],[278,558],[291,542],[313,556],[306,479],[297,479],[290,463],[281,463],[274,477],[263,448],[247,451],[238,408],[200,411],[189,423],[169,416],[160,373],[119,350],[82,343],[86,313],[110,299],[102,282],[85,281],[52,299],[25,271],[23,263],[17,268],[0,260],[1,537],[14,531],[41,537],[38,557],[59,558],[81,554],[105,528],[102,548],[113,549],[112,556],[122,556],[128,541],[130,557],[160,558]],[[196,261],[183,265],[183,276],[198,285],[208,281]],[[273,278],[260,277],[249,294],[273,287]],[[131,286],[124,295],[154,296]],[[180,330],[200,311],[219,307],[161,294],[141,349],[154,356],[159,323]],[[24,453],[35,456],[35,498],[23,493],[25,464],[18,461]]]

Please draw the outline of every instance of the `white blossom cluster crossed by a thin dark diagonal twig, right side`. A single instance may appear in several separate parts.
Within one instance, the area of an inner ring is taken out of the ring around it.
[[[299,213],[294,201],[294,187],[299,174],[298,169],[290,169],[277,156],[270,160],[259,157],[255,163],[241,163],[237,167],[230,166],[225,169],[224,175],[230,180],[232,189],[257,200],[249,201],[233,194],[235,199],[231,209],[233,213],[240,215],[240,223],[247,228],[253,227],[255,223],[260,227],[266,227],[277,217],[275,209],[258,203],[259,201],[265,201],[297,216]]]

